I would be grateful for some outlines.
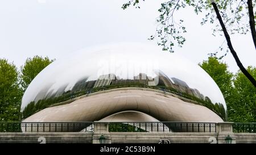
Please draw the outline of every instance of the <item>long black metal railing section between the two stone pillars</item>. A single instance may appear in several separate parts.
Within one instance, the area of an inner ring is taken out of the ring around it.
[[[109,122],[109,132],[216,132],[216,123]]]

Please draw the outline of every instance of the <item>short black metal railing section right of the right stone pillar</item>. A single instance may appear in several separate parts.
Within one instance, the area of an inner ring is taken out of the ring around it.
[[[233,132],[256,133],[256,123],[233,123]]]

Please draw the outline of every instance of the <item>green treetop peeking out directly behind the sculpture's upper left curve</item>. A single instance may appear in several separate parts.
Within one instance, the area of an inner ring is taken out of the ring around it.
[[[53,61],[48,57],[34,56],[33,58],[27,58],[24,66],[20,68],[23,90],[26,90],[32,80]]]

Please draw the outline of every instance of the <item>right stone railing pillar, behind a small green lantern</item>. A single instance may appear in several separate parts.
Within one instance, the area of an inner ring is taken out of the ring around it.
[[[226,137],[232,138],[232,144],[236,144],[236,136],[233,133],[233,122],[217,123],[217,140],[219,144],[225,144]]]

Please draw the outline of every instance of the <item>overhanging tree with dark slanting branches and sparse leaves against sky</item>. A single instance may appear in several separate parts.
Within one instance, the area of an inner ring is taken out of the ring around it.
[[[130,0],[129,2],[125,3],[122,8],[126,9],[130,5],[139,8],[138,3],[139,0]],[[250,29],[256,48],[256,31],[253,14],[253,7],[255,6],[255,3],[256,1],[252,0],[247,0],[247,3],[245,0],[217,0],[217,3],[214,0],[170,0],[164,2],[161,4],[160,9],[158,10],[160,15],[156,22],[159,23],[159,26],[156,28],[155,35],[151,35],[149,39],[154,40],[157,38],[158,45],[162,45],[164,51],[174,52],[172,47],[174,47],[176,44],[179,47],[182,47],[182,45],[185,43],[185,37],[182,34],[187,32],[185,26],[183,26],[184,20],[180,19],[179,22],[174,20],[175,11],[185,8],[186,6],[194,7],[196,14],[199,14],[199,12],[205,10],[207,11],[207,14],[205,15],[205,18],[201,24],[208,21],[210,23],[214,23],[217,15],[221,28],[218,28],[219,26],[217,24],[214,32],[224,32],[229,51],[236,60],[238,67],[250,80],[250,82],[253,83],[254,87],[256,87],[255,79],[250,75],[249,72],[247,72],[238,58],[226,28],[226,25],[228,25],[230,32],[238,32],[243,34],[249,32]],[[245,19],[246,23],[243,23],[243,19]],[[222,48],[220,49],[222,50]],[[216,55],[216,53],[213,53],[213,55]]]

